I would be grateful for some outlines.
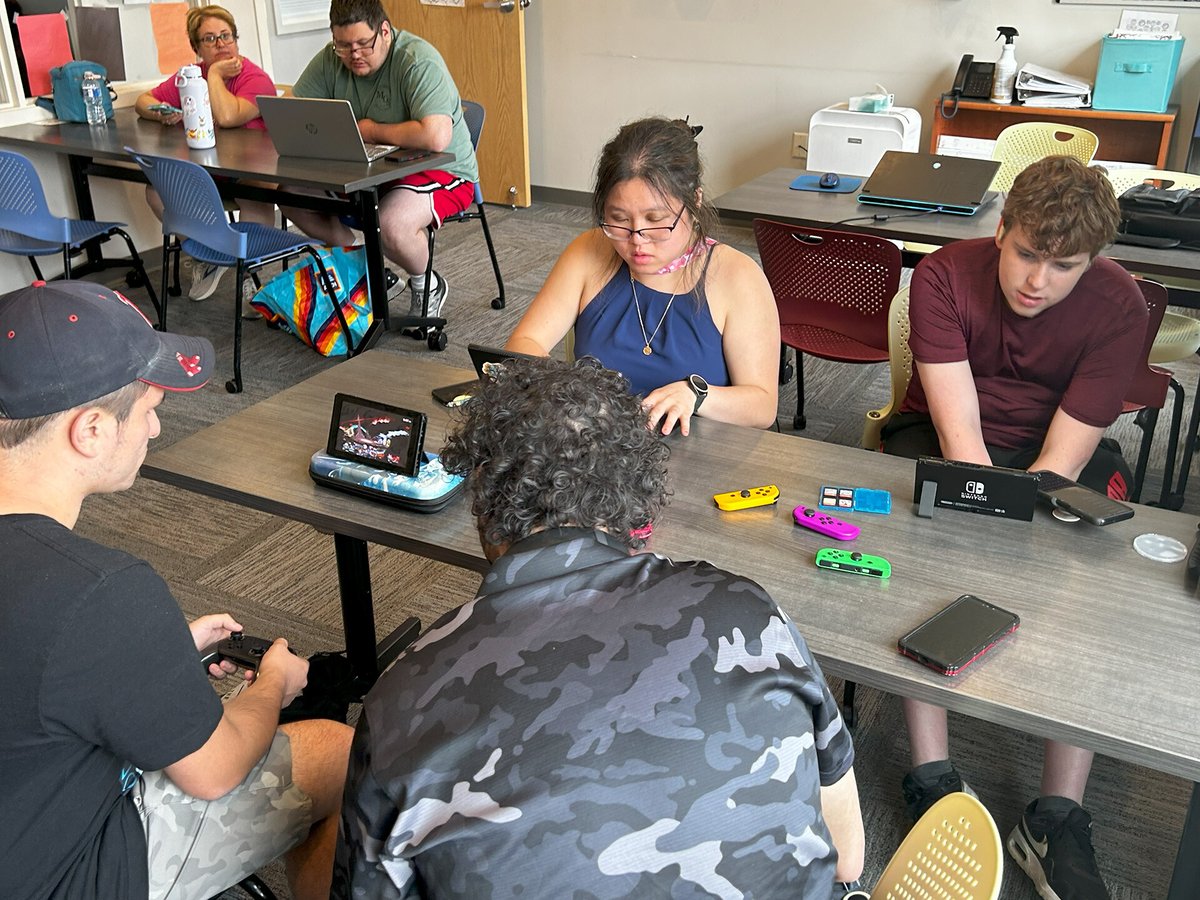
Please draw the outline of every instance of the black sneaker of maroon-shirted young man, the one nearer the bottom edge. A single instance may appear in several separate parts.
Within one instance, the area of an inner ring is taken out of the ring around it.
[[[1039,797],[1008,835],[1008,853],[1043,900],[1109,900],[1092,850],[1092,817],[1066,797]]]

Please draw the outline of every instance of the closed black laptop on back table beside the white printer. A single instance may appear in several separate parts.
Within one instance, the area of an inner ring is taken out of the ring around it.
[[[887,150],[858,202],[973,216],[996,199],[988,187],[997,169],[996,160]]]

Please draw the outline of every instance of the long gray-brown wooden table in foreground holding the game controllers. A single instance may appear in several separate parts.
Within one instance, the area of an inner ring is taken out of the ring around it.
[[[332,532],[343,570],[352,556],[365,566],[364,542],[373,541],[485,571],[466,498],[421,515],[319,487],[307,475],[335,392],[361,394],[370,384],[373,400],[428,412],[436,449],[449,414],[430,390],[464,374],[372,350],[152,452],[143,473]],[[1133,518],[1105,528],[1066,524],[1045,510],[1032,523],[946,510],[924,520],[912,512],[911,460],[703,419],[690,437],[668,440],[674,497],[652,550],[757,580],[830,674],[1200,780],[1200,600],[1184,584],[1182,563],[1151,562],[1132,546],[1145,532],[1190,546],[1190,516],[1138,506]],[[246,458],[257,464],[230,462]],[[769,482],[780,488],[776,506],[720,512],[713,504],[715,492]],[[791,514],[812,504],[822,484],[892,492],[890,515],[846,516],[863,529],[854,546],[892,562],[890,580],[814,566],[815,552],[834,541],[796,527]],[[361,583],[342,582],[347,646],[370,653],[373,665],[370,576],[356,575],[367,577],[365,593]],[[961,593],[1016,612],[1020,630],[956,678],[896,653],[901,634]],[[1194,793],[1181,860],[1195,858],[1196,826]],[[1176,866],[1172,900],[1200,896],[1200,875]]]

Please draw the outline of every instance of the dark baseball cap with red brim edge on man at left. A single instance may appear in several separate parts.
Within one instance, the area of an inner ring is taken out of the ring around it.
[[[35,281],[0,296],[0,414],[73,409],[133,382],[191,391],[209,380],[212,344],[155,331],[128,300],[89,281]]]

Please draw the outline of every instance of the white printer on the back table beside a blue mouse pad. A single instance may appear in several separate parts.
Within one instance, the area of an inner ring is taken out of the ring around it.
[[[920,113],[892,107],[883,113],[856,113],[846,103],[818,109],[809,120],[810,172],[870,175],[884,150],[920,149]]]

